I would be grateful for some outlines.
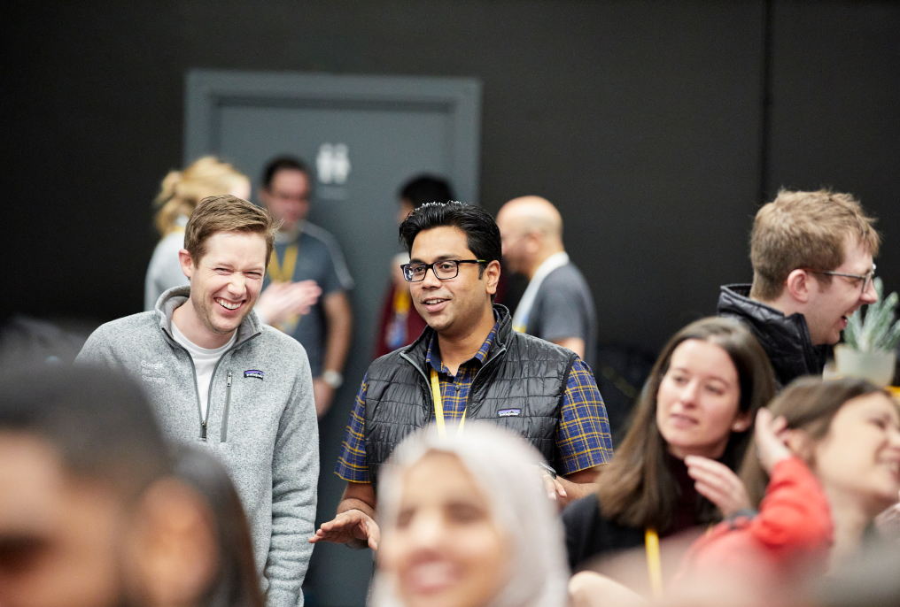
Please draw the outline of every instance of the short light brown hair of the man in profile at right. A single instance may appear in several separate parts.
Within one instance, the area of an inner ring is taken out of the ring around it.
[[[878,255],[880,237],[851,194],[779,191],[762,206],[753,221],[750,261],[753,286],[750,296],[761,301],[778,299],[788,274],[798,268],[831,271],[844,262],[844,241],[859,238],[872,256]],[[831,276],[815,274],[822,284]]]

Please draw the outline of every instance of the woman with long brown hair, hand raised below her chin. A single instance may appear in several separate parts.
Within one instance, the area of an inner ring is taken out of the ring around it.
[[[756,411],[774,394],[769,359],[741,323],[714,317],[681,329],[653,365],[597,495],[563,512],[572,570],[646,545],[653,572],[660,538],[749,506],[734,470]]]

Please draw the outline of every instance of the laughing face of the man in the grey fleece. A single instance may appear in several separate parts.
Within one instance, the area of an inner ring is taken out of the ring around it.
[[[228,335],[259,297],[266,275],[266,239],[253,232],[218,232],[206,241],[206,253],[192,263],[191,303],[203,326]]]

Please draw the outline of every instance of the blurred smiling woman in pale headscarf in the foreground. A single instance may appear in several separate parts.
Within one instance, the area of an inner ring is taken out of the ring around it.
[[[563,607],[563,531],[540,461],[492,424],[402,442],[379,486],[375,607]]]

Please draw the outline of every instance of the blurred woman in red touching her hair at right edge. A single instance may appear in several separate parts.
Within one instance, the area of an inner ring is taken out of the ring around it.
[[[678,604],[809,604],[808,582],[838,573],[900,491],[900,410],[862,379],[803,378],[757,415],[742,469],[755,515],[722,522],[689,549]],[[649,604],[601,576],[576,604]]]

